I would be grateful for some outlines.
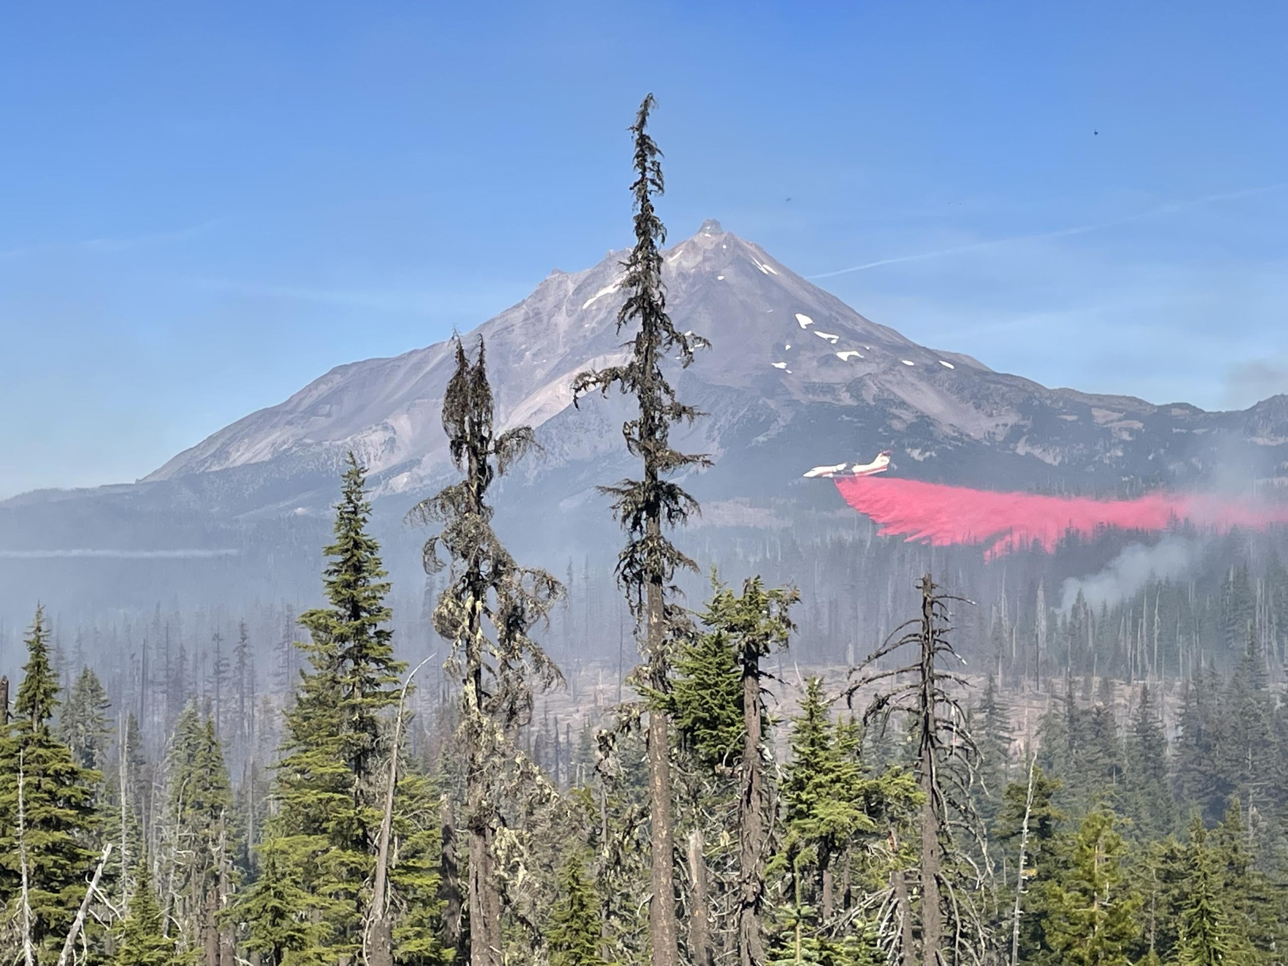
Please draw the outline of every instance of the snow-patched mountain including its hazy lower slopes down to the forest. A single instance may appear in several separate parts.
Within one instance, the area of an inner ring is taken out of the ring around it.
[[[516,545],[551,563],[571,547],[608,553],[620,541],[595,487],[634,469],[621,442],[627,408],[598,397],[573,407],[569,386],[622,357],[623,255],[553,272],[468,336],[486,340],[500,421],[537,426],[545,448],[505,482],[498,522],[509,516]],[[707,413],[677,435],[715,460],[687,480],[703,501],[705,540],[835,527],[851,516],[835,488],[801,474],[882,450],[894,452],[893,475],[989,488],[1110,493],[1288,477],[1288,397],[1209,413],[1048,389],[912,343],[716,222],[668,250],[665,281],[676,326],[712,343],[675,374],[681,398]],[[36,586],[63,571],[41,577],[15,553],[232,546],[273,580],[298,569],[299,586],[313,587],[350,450],[370,469],[385,538],[410,545],[402,514],[451,474],[439,424],[451,365],[438,343],[340,366],[135,484],[0,502],[0,558],[10,558],[0,569]]]

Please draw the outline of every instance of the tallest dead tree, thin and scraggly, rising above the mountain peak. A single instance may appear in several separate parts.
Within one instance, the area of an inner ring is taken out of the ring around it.
[[[693,352],[707,345],[699,336],[681,334],[666,314],[662,285],[662,251],[666,229],[653,207],[663,191],[662,152],[648,134],[653,95],[640,104],[630,131],[635,143],[635,247],[622,263],[626,276],[622,289],[626,301],[617,313],[617,331],[639,323],[626,346],[630,359],[622,366],[582,372],[573,380],[573,401],[599,390],[601,395],[617,386],[635,397],[639,415],[622,426],[626,448],[640,459],[643,479],[626,479],[600,491],[614,498],[613,515],[627,533],[626,547],[617,558],[617,580],[626,590],[636,636],[644,658],[643,684],[658,693],[667,688],[671,631],[683,620],[667,603],[675,595],[671,581],[679,568],[697,569],[663,533],[663,524],[684,523],[698,504],[679,484],[667,479],[677,470],[710,465],[705,456],[676,452],[670,446],[674,424],[693,422],[699,415],[681,403],[666,381],[662,362],[679,357],[681,366],[693,362]],[[649,902],[649,943],[653,966],[676,966],[679,949],[675,916],[675,826],[671,813],[671,773],[667,744],[667,716],[649,714],[648,725],[649,824],[652,833],[652,899]]]

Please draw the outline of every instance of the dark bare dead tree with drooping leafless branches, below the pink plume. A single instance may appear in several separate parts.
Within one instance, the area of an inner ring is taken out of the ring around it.
[[[893,714],[911,715],[917,735],[917,782],[922,792],[921,858],[917,884],[921,894],[921,962],[980,963],[988,935],[979,905],[983,876],[962,841],[984,851],[983,829],[971,802],[970,786],[979,762],[979,748],[970,734],[966,712],[948,692],[966,688],[966,679],[939,667],[947,658],[965,663],[948,640],[948,603],[965,598],[939,594],[927,573],[917,582],[921,617],[896,627],[885,643],[851,672],[846,698],[875,687],[876,694],[863,714],[864,725],[886,728]],[[905,645],[916,645],[916,659],[881,668],[878,663]],[[898,887],[898,884],[896,884]],[[905,917],[911,912],[904,912]],[[907,921],[907,918],[905,918]],[[945,934],[948,949],[945,949]],[[908,948],[908,933],[899,939],[902,961],[913,966],[916,951]]]

